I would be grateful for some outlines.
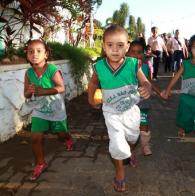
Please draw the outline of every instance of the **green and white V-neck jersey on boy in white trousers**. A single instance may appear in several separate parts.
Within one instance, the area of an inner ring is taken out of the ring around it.
[[[117,69],[104,58],[94,64],[103,95],[103,111],[122,113],[140,100],[138,93],[138,60],[125,57],[124,63]]]

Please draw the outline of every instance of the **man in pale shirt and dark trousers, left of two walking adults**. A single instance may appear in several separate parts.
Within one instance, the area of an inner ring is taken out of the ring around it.
[[[164,40],[158,35],[158,28],[157,27],[152,27],[151,28],[152,36],[148,39],[148,45],[151,46],[153,54],[155,55],[154,57],[154,62],[153,62],[153,80],[157,80],[157,75],[158,75],[158,67],[160,60],[162,58],[163,50],[165,51],[166,55],[169,56],[167,52],[167,48],[165,46]]]

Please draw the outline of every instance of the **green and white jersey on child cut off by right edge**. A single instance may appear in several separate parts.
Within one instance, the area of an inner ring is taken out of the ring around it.
[[[195,96],[195,65],[188,59],[183,61],[183,68],[181,93]]]

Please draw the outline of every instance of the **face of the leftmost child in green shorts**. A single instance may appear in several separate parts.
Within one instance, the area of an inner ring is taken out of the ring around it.
[[[43,67],[45,65],[48,53],[41,42],[32,42],[27,48],[27,59],[33,67]]]

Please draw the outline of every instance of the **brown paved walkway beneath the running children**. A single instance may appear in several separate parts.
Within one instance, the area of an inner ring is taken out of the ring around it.
[[[170,78],[162,76],[159,85]],[[113,190],[114,166],[108,153],[101,111],[92,109],[86,94],[67,104],[74,150],[66,152],[55,137],[46,136],[47,172],[36,182],[28,180],[33,163],[29,132],[21,132],[0,144],[0,196],[192,196],[195,195],[195,148],[178,142],[175,112],[177,91],[169,102],[152,96],[151,131],[153,155],[144,157],[138,144],[139,165],[126,165],[127,188]],[[193,136],[193,134],[192,134]]]

